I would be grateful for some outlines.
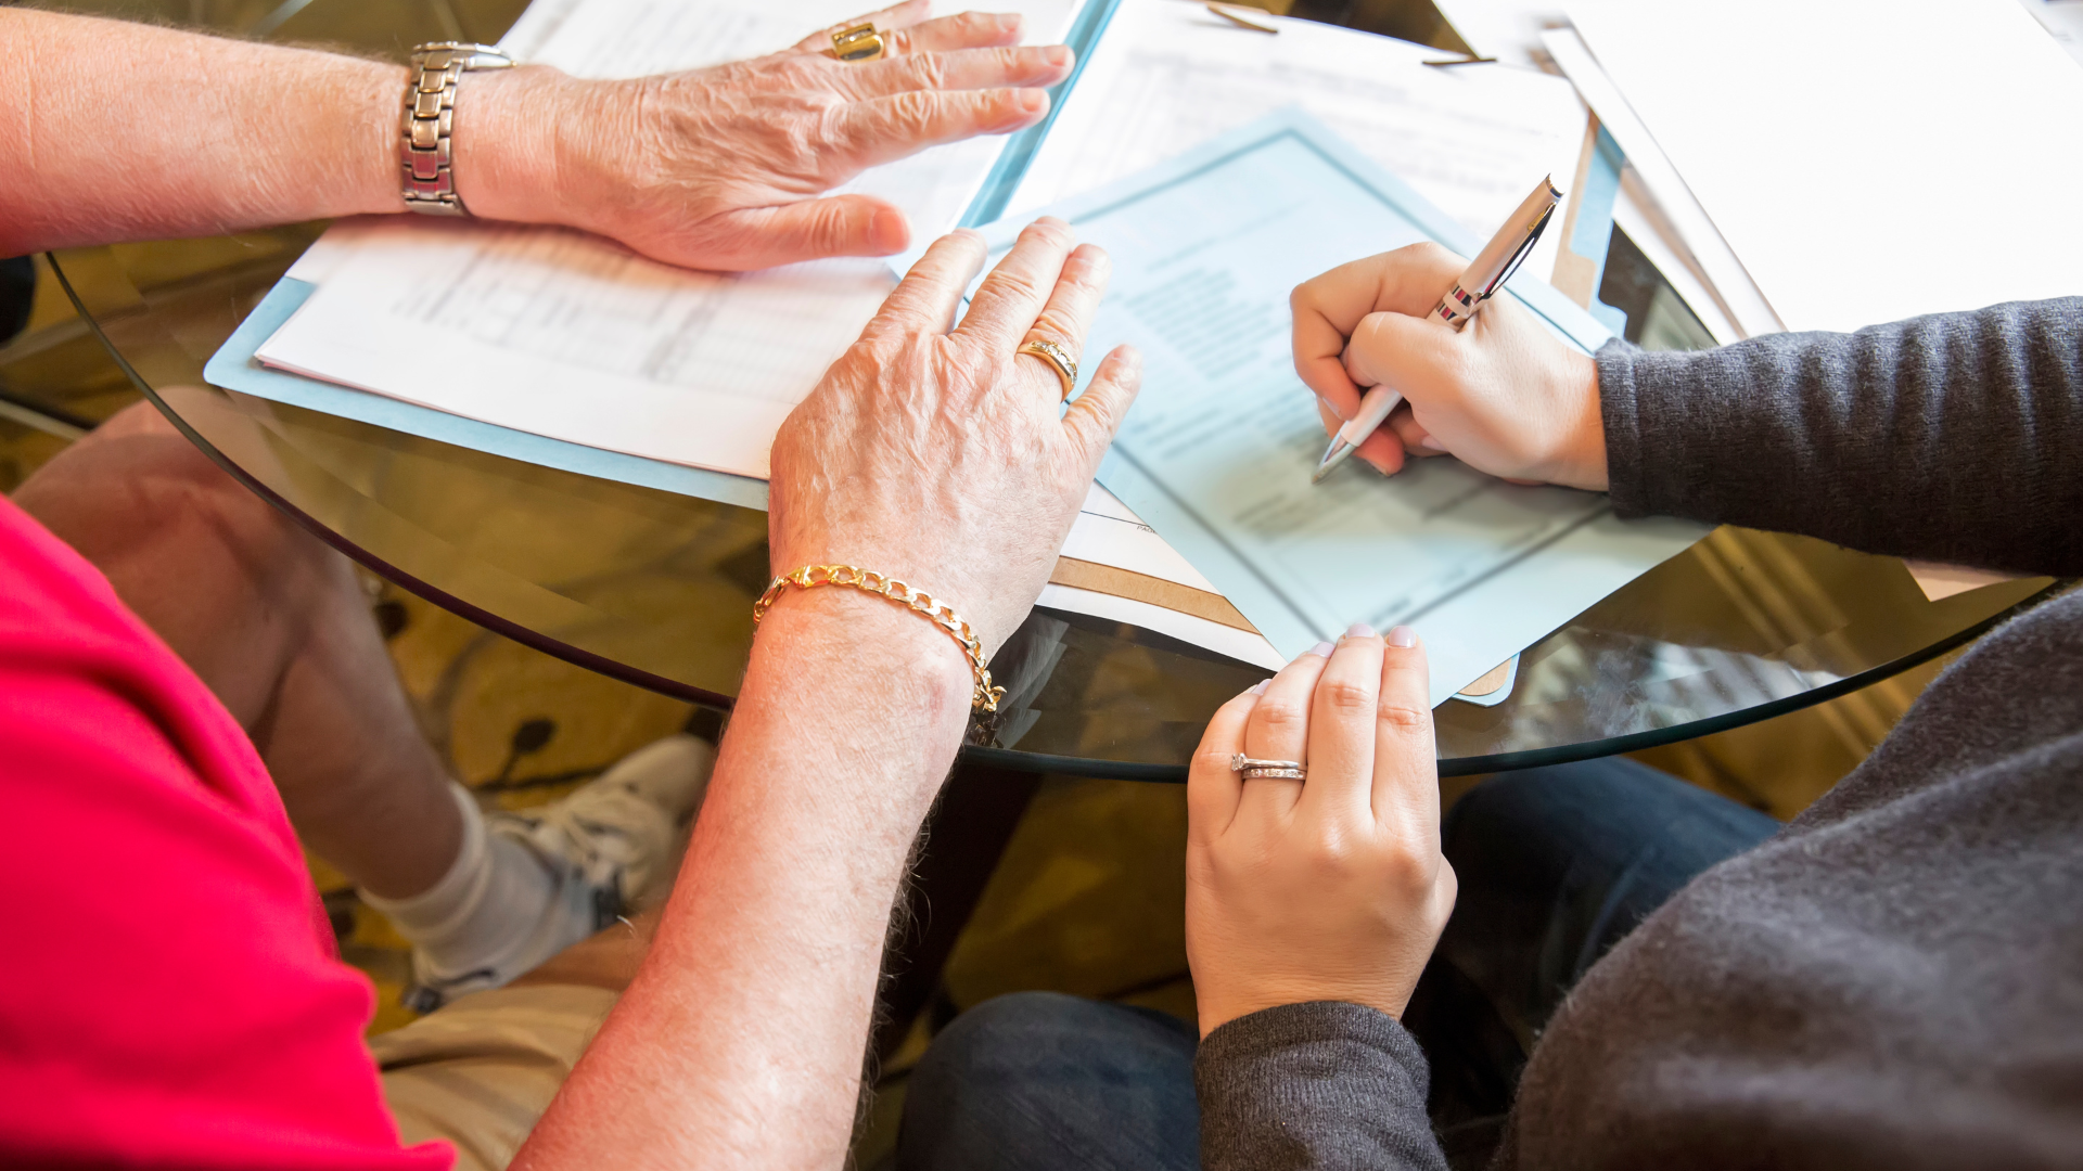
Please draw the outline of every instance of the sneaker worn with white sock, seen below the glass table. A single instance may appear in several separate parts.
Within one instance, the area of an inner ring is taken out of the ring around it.
[[[548,906],[525,938],[465,971],[412,948],[406,1008],[431,1013],[458,996],[500,988],[621,919],[673,871],[679,829],[702,804],[714,765],[717,746],[708,740],[667,736],[562,800],[487,813],[494,865],[542,867],[550,877]]]

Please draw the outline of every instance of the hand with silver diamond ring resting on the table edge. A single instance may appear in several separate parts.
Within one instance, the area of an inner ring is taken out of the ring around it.
[[[1241,779],[1231,754],[1308,779]],[[1187,775],[1185,954],[1200,1031],[1277,1004],[1402,1017],[1454,911],[1425,648],[1354,627],[1223,704]]]

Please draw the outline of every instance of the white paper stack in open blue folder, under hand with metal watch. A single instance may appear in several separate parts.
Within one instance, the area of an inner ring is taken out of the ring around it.
[[[1027,17],[1031,42],[1052,42],[1075,2],[1002,8]],[[852,15],[858,0],[548,0],[502,46],[579,77],[639,77],[775,52]],[[889,198],[917,233],[937,235],[1002,148],[933,148],[842,190]],[[781,419],[896,279],[881,260],[696,273],[577,231],[419,217],[358,225],[352,244],[312,252],[290,275],[319,292],[260,346],[265,365],[756,479]]]

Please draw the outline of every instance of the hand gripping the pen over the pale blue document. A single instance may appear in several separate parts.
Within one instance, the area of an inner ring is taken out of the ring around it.
[[[1506,479],[1604,490],[1598,365],[1508,296],[1458,333],[1435,321],[1462,267],[1437,244],[1412,244],[1296,285],[1296,373],[1316,392],[1325,431],[1387,383],[1404,404],[1354,452],[1383,475],[1406,454],[1454,454]]]

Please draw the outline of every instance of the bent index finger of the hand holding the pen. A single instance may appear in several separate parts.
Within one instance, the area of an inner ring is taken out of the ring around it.
[[[1352,419],[1360,408],[1360,383],[1346,373],[1346,344],[1369,313],[1423,317],[1460,275],[1462,260],[1437,244],[1410,244],[1364,260],[1339,265],[1296,285],[1287,298],[1294,310],[1296,375]]]

